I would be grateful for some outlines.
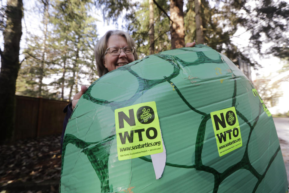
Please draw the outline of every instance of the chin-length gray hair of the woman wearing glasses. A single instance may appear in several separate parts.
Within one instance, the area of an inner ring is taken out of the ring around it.
[[[107,40],[112,35],[123,36],[126,39],[127,44],[129,46],[135,46],[134,40],[128,33],[121,31],[121,30],[107,31],[107,33],[104,34],[104,36],[98,41],[98,43],[94,47],[94,57],[95,57],[97,73],[99,77],[103,76],[104,74],[108,72],[107,68],[104,67],[103,60],[104,60],[104,53],[107,49]],[[136,51],[133,53],[133,56],[135,60],[138,59],[138,55],[136,54]]]

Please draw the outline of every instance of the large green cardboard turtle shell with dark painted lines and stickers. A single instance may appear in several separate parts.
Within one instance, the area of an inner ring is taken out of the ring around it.
[[[245,75],[204,45],[95,81],[62,152],[60,192],[287,192],[270,112]]]

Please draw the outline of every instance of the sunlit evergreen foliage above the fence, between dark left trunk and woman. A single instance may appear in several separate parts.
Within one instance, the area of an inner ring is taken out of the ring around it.
[[[30,34],[27,40],[17,94],[63,99],[69,93],[71,99],[82,84],[95,81],[97,20],[90,15],[92,6],[89,0],[57,0],[49,5],[46,24],[43,13],[43,36]]]

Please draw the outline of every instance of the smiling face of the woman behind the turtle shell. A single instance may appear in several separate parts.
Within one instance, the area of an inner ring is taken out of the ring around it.
[[[123,36],[112,35],[107,40],[107,48],[117,46],[123,48],[125,46],[129,46],[126,42],[126,39]],[[126,55],[123,49],[120,50],[119,55],[111,55],[110,53],[106,53],[104,55],[104,67],[110,72],[112,70],[117,69],[120,66],[127,65],[130,62],[135,61],[133,54]]]

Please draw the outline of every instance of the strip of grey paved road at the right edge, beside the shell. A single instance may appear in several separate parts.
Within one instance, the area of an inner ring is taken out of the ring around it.
[[[289,183],[289,118],[273,118],[286,167]]]

